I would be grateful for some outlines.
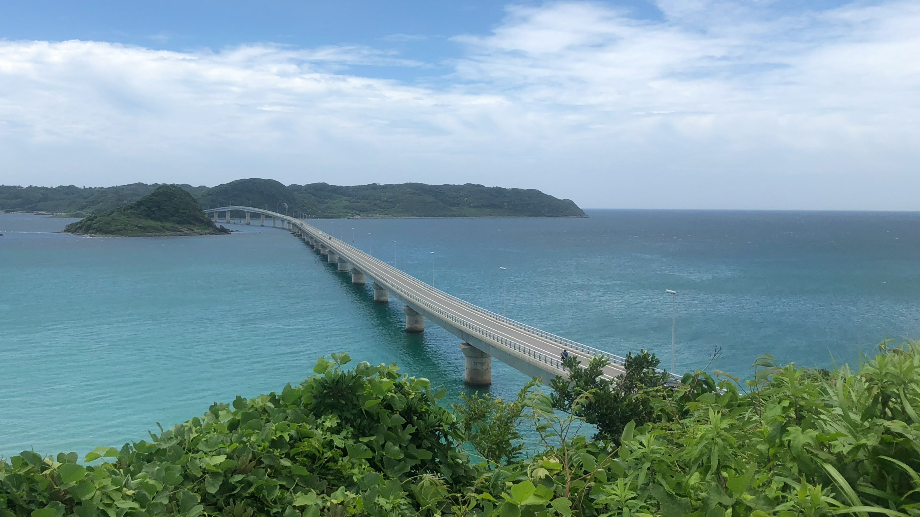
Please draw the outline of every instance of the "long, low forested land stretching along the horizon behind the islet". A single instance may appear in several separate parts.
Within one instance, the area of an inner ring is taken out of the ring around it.
[[[136,201],[158,185],[120,187],[0,186],[0,211],[67,213],[75,217],[102,213]],[[466,185],[358,185],[328,183],[285,186],[273,179],[237,179],[213,188],[181,185],[201,206],[244,205],[314,218],[362,217],[585,217],[573,201],[533,189]]]

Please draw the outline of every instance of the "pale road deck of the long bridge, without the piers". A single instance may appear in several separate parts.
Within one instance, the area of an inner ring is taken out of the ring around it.
[[[580,357],[582,364],[594,355],[604,355],[611,362],[604,370],[606,377],[623,373],[622,357],[550,334],[443,293],[300,219],[243,206],[210,209],[205,213],[228,210],[265,214],[293,224],[433,323],[523,373],[542,376],[545,380],[556,375],[566,376],[560,361],[564,350]]]

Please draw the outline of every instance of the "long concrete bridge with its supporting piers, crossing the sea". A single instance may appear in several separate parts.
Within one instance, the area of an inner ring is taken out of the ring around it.
[[[213,214],[215,223],[225,221],[229,224],[231,211],[245,213],[245,224],[251,224],[252,214],[259,216],[262,226],[269,218],[272,226],[289,229],[294,236],[304,239],[328,262],[335,263],[337,270],[351,273],[352,282],[372,281],[374,302],[387,303],[391,296],[400,300],[406,313],[407,332],[424,331],[428,319],[454,334],[460,339],[460,350],[466,356],[468,385],[491,384],[493,357],[526,375],[541,377],[547,383],[557,375],[568,376],[561,362],[563,353],[579,357],[582,364],[587,364],[595,355],[603,355],[610,361],[604,370],[606,377],[623,373],[625,360],[620,356],[550,334],[444,293],[300,219],[247,206],[224,206],[204,212]],[[224,213],[220,221],[218,213]]]

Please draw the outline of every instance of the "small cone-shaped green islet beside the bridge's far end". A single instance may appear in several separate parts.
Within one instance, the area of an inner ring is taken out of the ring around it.
[[[95,236],[205,236],[229,233],[201,211],[188,190],[160,185],[128,205],[67,224],[64,233]]]

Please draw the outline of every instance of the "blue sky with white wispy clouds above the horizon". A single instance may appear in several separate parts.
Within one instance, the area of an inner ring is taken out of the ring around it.
[[[0,0],[0,184],[918,210],[920,2]]]

